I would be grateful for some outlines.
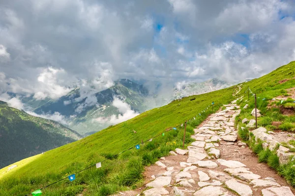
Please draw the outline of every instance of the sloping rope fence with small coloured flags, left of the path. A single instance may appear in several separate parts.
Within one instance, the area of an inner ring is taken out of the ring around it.
[[[211,103],[211,105],[212,105],[212,113],[213,113],[214,101]],[[198,118],[198,117],[202,116],[202,113],[205,113],[208,109],[210,109],[211,105],[207,106],[204,110],[202,110],[202,112],[200,112],[199,114],[197,114],[196,117]],[[191,121],[191,120],[195,120],[196,117],[193,117],[193,118],[190,119],[189,121]],[[186,122],[185,122],[185,123],[186,123]],[[156,135],[156,136],[154,136],[154,137],[152,137],[152,138],[150,138],[150,139],[148,139],[148,140],[146,140],[146,141],[142,141],[141,143],[139,143],[139,144],[137,144],[137,145],[135,145],[135,146],[133,146],[133,147],[130,147],[130,148],[128,148],[128,149],[125,149],[125,150],[121,151],[120,153],[113,155],[112,157],[108,157],[108,158],[104,159],[104,160],[101,161],[101,162],[98,162],[98,163],[92,164],[92,165],[90,165],[89,167],[87,167],[87,168],[85,168],[85,169],[83,169],[83,170],[80,170],[80,171],[78,171],[78,172],[75,172],[75,173],[73,173],[73,174],[67,176],[67,177],[64,177],[64,178],[62,178],[62,179],[59,179],[58,181],[53,182],[53,183],[51,183],[51,184],[49,184],[49,185],[47,185],[47,186],[45,186],[45,187],[42,187],[42,188],[40,188],[40,189],[38,189],[38,190],[36,190],[36,191],[34,191],[34,192],[31,192],[31,193],[27,194],[27,195],[25,195],[25,196],[29,196],[30,194],[33,195],[33,196],[40,196],[40,195],[42,195],[42,191],[41,191],[41,190],[43,190],[43,189],[45,189],[45,188],[47,188],[47,187],[49,187],[49,186],[52,186],[52,185],[54,185],[54,184],[56,184],[56,183],[58,183],[58,182],[60,182],[60,181],[62,181],[62,180],[65,180],[65,179],[67,179],[67,178],[68,178],[70,181],[73,181],[73,180],[76,179],[76,174],[78,174],[78,173],[80,173],[80,172],[83,172],[83,171],[85,171],[85,170],[89,170],[90,168],[92,168],[92,167],[94,167],[94,166],[96,166],[96,168],[100,168],[100,167],[102,166],[102,163],[105,162],[106,160],[111,160],[113,157],[117,157],[118,155],[120,155],[120,154],[122,154],[122,153],[124,153],[124,152],[126,152],[126,151],[128,151],[128,150],[134,149],[134,148],[136,148],[136,149],[140,149],[140,145],[144,145],[144,144],[147,143],[147,142],[151,142],[154,138],[157,138],[157,137],[159,137],[159,136],[165,136],[165,133],[166,133],[166,132],[169,132],[169,131],[171,131],[171,130],[177,130],[177,127],[179,127],[179,126],[182,127],[182,126],[183,126],[183,123],[182,123],[182,124],[179,124],[179,125],[177,125],[177,126],[175,126],[175,127],[173,127],[173,128],[169,128],[168,130],[165,130],[164,132],[162,132],[162,133],[160,133],[160,134],[158,134],[158,135]],[[183,138],[183,139],[184,139],[184,138]]]

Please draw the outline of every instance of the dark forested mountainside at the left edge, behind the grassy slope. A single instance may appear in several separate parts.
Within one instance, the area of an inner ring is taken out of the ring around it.
[[[81,138],[60,123],[31,116],[0,101],[0,168]]]

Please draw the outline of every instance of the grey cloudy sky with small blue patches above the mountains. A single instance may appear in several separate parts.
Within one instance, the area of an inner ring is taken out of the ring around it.
[[[0,93],[259,77],[295,60],[294,0],[0,0]]]

